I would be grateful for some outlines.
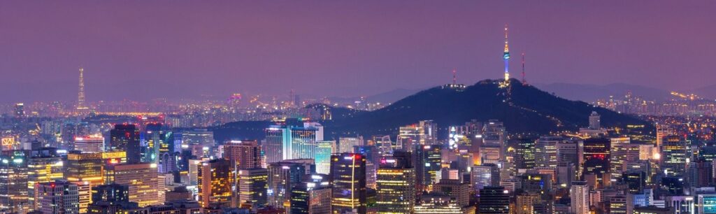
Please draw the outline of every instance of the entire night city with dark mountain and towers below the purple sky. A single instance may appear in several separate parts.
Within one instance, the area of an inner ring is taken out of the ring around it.
[[[76,99],[0,104],[0,213],[716,213],[715,99],[573,101],[484,30],[504,70],[391,98],[102,101],[78,65]]]

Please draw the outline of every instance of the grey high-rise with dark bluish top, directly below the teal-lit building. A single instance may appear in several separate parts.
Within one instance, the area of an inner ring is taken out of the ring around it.
[[[306,165],[299,162],[272,162],[269,164],[268,205],[285,208],[291,200],[291,188],[306,175]]]

